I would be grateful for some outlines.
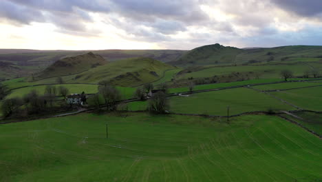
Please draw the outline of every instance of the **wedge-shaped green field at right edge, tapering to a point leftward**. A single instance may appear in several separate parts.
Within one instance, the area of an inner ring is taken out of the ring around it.
[[[322,110],[322,87],[301,88],[281,92],[271,92],[275,96],[286,100],[305,110]]]

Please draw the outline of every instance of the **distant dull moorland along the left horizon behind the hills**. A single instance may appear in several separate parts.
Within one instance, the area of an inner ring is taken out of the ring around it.
[[[89,51],[71,50],[1,50],[0,49],[0,81],[25,77],[34,72],[40,72],[55,61],[65,57],[86,54]],[[94,50],[107,61],[117,61],[133,57],[149,57],[163,62],[178,59],[185,50]],[[14,69],[5,68],[1,63],[10,63]]]

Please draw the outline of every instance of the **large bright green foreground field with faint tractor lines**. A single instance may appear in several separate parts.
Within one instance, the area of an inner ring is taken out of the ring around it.
[[[106,139],[106,123],[109,139]],[[0,181],[319,181],[322,142],[277,117],[81,114],[0,127]]]

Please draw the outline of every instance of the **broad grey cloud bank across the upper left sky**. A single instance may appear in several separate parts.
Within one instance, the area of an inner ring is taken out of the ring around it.
[[[147,32],[147,37],[153,37],[151,32],[138,28],[145,26],[155,31],[158,39],[208,20],[197,0],[3,0],[3,4],[6,6],[1,6],[1,17],[23,24],[46,21],[68,31],[86,31],[84,23],[94,21],[89,12],[117,14],[132,24],[131,34],[144,37]],[[122,27],[118,23],[113,26]]]

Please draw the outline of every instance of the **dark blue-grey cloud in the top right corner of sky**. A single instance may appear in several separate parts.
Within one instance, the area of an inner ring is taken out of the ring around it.
[[[283,10],[294,12],[303,17],[313,17],[322,13],[321,0],[271,0]]]

